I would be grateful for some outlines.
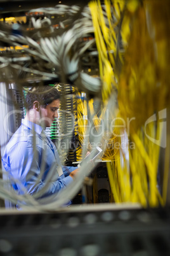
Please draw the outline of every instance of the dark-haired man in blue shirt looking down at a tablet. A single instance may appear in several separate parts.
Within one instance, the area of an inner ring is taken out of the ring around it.
[[[36,87],[27,93],[26,105],[25,119],[6,146],[2,160],[18,194],[24,194],[26,188],[27,193],[42,198],[67,187],[78,169],[61,165],[55,145],[44,134],[58,118],[58,90]]]

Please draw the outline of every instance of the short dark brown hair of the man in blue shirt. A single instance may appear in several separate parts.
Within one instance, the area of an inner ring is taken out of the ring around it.
[[[25,105],[27,110],[31,110],[34,101],[38,101],[42,108],[46,108],[55,99],[60,99],[60,92],[58,92],[56,87],[52,87],[51,85],[33,87],[27,93]]]

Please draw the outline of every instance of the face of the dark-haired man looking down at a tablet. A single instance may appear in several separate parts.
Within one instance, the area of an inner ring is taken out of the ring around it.
[[[58,118],[58,108],[60,107],[60,99],[55,99],[49,103],[46,108],[40,107],[41,124],[44,127],[50,127],[55,118]]]

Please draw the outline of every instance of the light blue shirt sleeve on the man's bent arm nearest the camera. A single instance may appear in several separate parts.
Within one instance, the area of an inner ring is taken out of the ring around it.
[[[27,189],[29,194],[37,194],[36,197],[46,197],[48,195],[59,193],[64,187],[72,182],[72,177],[64,175],[59,178],[53,178],[56,162],[51,162],[51,168],[46,173],[46,165],[41,165],[42,152],[38,146],[28,146],[27,142],[18,143],[10,152],[11,175],[15,178],[16,186],[20,194],[23,194],[23,188]],[[46,163],[45,163],[46,164]],[[43,170],[44,169],[44,170]],[[44,173],[46,178],[44,179]],[[51,181],[53,178],[53,181]]]

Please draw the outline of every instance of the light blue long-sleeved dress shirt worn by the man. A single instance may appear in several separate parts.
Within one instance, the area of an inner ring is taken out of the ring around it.
[[[18,194],[24,193],[24,187],[29,194],[41,198],[67,187],[72,182],[70,172],[77,169],[62,166],[58,151],[43,128],[25,119],[6,146],[2,160]]]

